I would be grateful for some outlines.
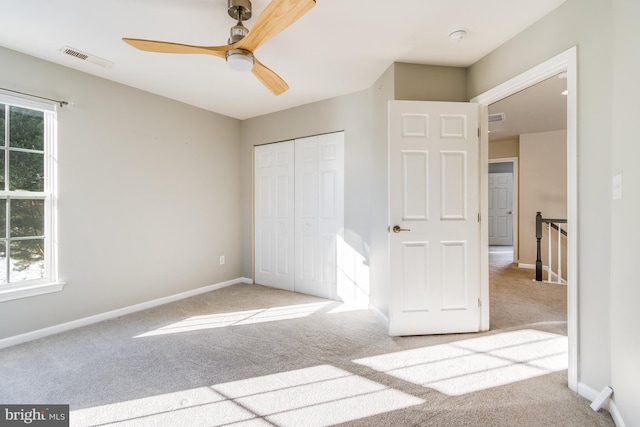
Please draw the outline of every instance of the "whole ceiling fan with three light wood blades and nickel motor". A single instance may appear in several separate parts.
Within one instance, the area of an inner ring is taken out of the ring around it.
[[[265,67],[253,52],[273,36],[307,13],[316,0],[273,0],[258,16],[251,30],[242,22],[251,18],[251,0],[227,0],[229,16],[238,22],[231,27],[231,37],[223,46],[192,46],[188,44],[123,38],[131,46],[147,52],[159,53],[196,53],[223,58],[231,68],[239,71],[251,71],[254,76],[274,95],[280,95],[289,89],[289,85],[280,76]]]

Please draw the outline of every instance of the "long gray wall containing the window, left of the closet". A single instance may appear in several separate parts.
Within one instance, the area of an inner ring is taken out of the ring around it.
[[[1,303],[0,339],[240,277],[239,121],[3,48],[0,63],[0,87],[75,104],[58,114],[67,285]]]

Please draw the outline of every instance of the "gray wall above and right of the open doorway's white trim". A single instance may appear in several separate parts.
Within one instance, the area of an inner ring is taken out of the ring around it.
[[[637,18],[637,16],[636,16]],[[578,380],[610,384],[611,2],[567,0],[468,71],[472,98],[578,46]],[[635,54],[629,49],[628,54]],[[637,317],[636,317],[637,318]],[[640,357],[635,353],[636,359]],[[637,395],[637,393],[636,393]]]

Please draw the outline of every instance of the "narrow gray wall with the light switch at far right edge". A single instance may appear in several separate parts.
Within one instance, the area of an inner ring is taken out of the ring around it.
[[[622,173],[623,198],[611,203],[611,384],[627,426],[640,426],[640,2],[613,1],[613,135],[611,176]],[[609,143],[610,141],[610,143]],[[610,177],[609,177],[610,178]],[[611,179],[605,184],[611,183]]]

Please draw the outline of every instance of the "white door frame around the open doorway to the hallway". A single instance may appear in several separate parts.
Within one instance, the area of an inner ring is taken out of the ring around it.
[[[557,75],[567,73],[567,336],[569,341],[569,388],[578,391],[578,63],[577,48],[574,46],[524,73],[484,92],[471,100],[480,104],[480,198],[482,217],[488,216],[488,106],[527,87]],[[488,224],[483,221],[481,231],[481,274],[483,301],[489,301],[489,237]],[[482,330],[489,328],[489,307],[482,307]]]

